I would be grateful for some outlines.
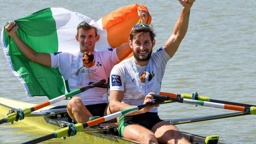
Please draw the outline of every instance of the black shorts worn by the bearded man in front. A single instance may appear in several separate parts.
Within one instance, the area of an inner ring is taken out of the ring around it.
[[[124,126],[128,124],[140,124],[149,130],[151,130],[153,126],[156,125],[157,123],[163,121],[159,118],[158,114],[154,112],[146,112],[143,114],[133,115],[133,116],[124,116],[123,117],[124,119],[123,118],[120,119],[120,118],[119,118],[119,124],[120,124],[120,120],[122,119],[121,123],[123,123]]]

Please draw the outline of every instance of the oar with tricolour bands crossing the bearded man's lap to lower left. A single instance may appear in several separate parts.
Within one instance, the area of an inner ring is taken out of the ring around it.
[[[103,116],[103,117],[94,119],[92,121],[89,121],[89,122],[86,122],[86,123],[83,123],[83,124],[81,124],[81,123],[70,124],[68,127],[59,129],[59,130],[57,130],[57,131],[55,131],[51,134],[48,134],[46,136],[37,138],[35,140],[27,141],[27,142],[22,143],[22,144],[39,143],[39,142],[43,142],[45,140],[50,140],[50,139],[53,139],[53,138],[65,137],[67,135],[68,136],[74,136],[74,135],[76,135],[76,132],[81,132],[83,130],[83,128],[90,127],[90,126],[93,126],[95,124],[100,124],[102,122],[106,122],[108,120],[114,119],[118,116],[124,116],[124,115],[130,114],[132,112],[138,111],[142,108],[145,108],[145,107],[148,107],[148,106],[151,106],[151,105],[159,104],[161,102],[164,102],[164,100],[155,100],[154,103],[146,103],[146,104],[143,104],[143,105],[139,105],[139,106],[135,106],[135,107],[132,107],[132,108],[125,109],[125,110],[121,110],[119,112],[116,112],[116,113],[113,113],[113,114],[110,114],[110,115],[107,115],[107,116]]]

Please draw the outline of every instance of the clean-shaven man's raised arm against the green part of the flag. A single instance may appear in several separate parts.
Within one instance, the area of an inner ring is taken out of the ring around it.
[[[10,22],[5,26],[5,31],[11,36],[20,53],[29,61],[36,62],[46,67],[51,67],[51,55],[49,53],[36,52],[28,46],[28,44],[24,43],[16,33],[18,28],[19,26],[17,23],[14,24],[14,22]]]

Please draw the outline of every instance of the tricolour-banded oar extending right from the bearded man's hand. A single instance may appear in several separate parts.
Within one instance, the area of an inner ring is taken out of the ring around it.
[[[150,94],[157,100],[172,100],[180,103],[192,104],[192,105],[200,105],[205,107],[213,107],[213,108],[222,108],[222,109],[229,109],[229,110],[236,110],[236,111],[243,111],[249,112],[252,115],[256,115],[256,107],[242,107],[236,105],[229,105],[229,104],[221,104],[215,102],[208,102],[202,100],[190,100],[190,99],[183,99],[183,98],[172,98],[164,95],[157,95],[157,94]]]

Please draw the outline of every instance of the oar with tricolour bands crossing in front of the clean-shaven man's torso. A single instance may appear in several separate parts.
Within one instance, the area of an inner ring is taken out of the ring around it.
[[[45,101],[45,102],[43,102],[39,105],[36,105],[32,108],[17,109],[17,110],[15,110],[14,113],[11,113],[11,114],[5,116],[3,119],[1,119],[0,124],[22,120],[22,119],[24,119],[25,116],[31,114],[31,112],[33,112],[35,110],[38,110],[40,108],[44,108],[44,107],[49,106],[49,105],[51,105],[53,103],[56,103],[58,101],[65,100],[66,98],[69,98],[69,97],[74,96],[78,93],[84,92],[84,91],[86,91],[90,88],[94,88],[94,87],[97,87],[97,86],[99,86],[101,84],[105,84],[105,83],[106,83],[106,80],[102,79],[102,80],[100,80],[98,82],[95,82],[95,83],[92,83],[92,84],[90,84],[86,87],[82,87],[82,88],[77,89],[75,91],[68,92],[68,93],[66,93],[64,95],[61,95],[57,98],[54,98],[52,100]]]

